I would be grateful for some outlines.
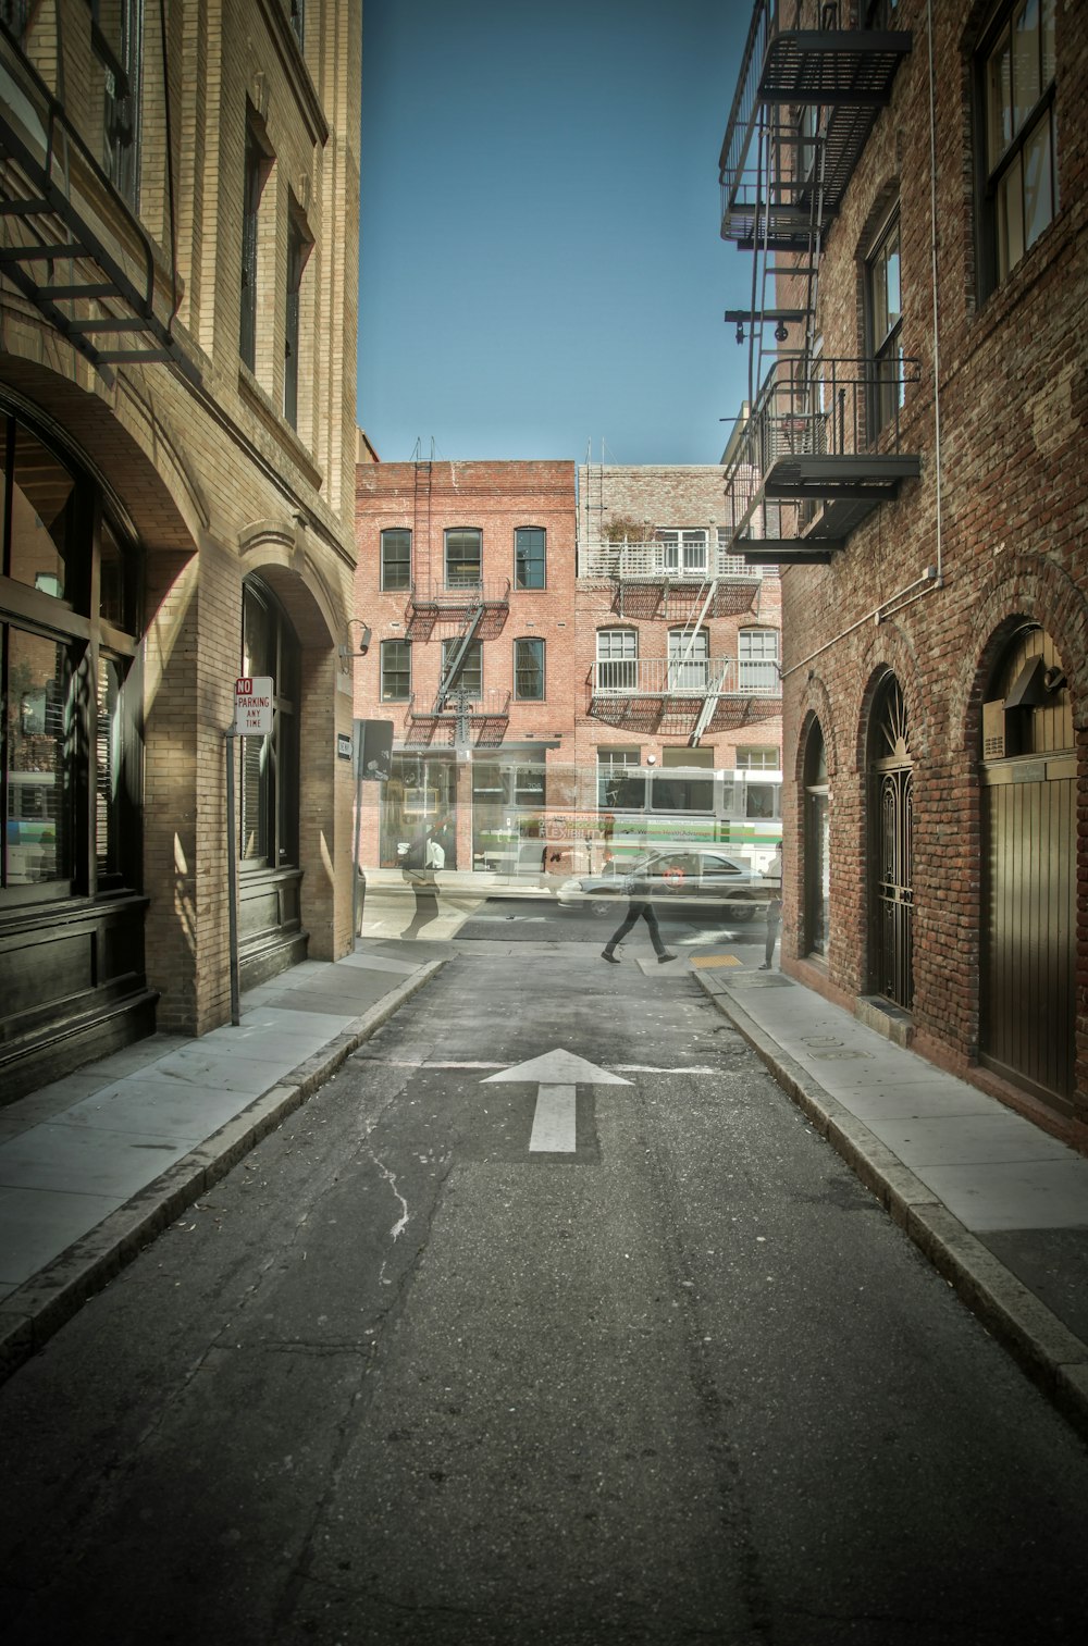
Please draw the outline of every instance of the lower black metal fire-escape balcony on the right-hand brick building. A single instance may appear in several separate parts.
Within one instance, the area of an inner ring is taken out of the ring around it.
[[[726,469],[729,550],[752,565],[826,560],[882,502],[917,479],[900,451],[900,410],[917,360],[820,360],[798,382],[777,360]],[[879,428],[877,428],[879,421]]]

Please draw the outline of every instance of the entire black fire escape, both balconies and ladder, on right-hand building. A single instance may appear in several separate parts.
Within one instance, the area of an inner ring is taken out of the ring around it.
[[[877,26],[889,10],[757,0],[752,15],[719,161],[723,239],[756,253],[752,305],[726,313],[749,342],[726,453],[729,551],[749,565],[830,561],[920,474],[899,438],[917,362],[830,359],[816,336],[823,240],[910,51]]]

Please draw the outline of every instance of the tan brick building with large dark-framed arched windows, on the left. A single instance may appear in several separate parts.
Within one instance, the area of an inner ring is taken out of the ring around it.
[[[351,942],[359,0],[0,12],[0,1088]],[[230,744],[237,677],[273,731]]]

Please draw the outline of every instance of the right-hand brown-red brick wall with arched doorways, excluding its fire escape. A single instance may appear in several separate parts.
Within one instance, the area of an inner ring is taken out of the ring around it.
[[[920,472],[783,570],[783,968],[1085,1147],[1088,35],[1053,3],[928,18],[895,8],[910,51],[820,249],[823,375],[867,356],[879,400],[897,214],[917,365],[858,449]]]

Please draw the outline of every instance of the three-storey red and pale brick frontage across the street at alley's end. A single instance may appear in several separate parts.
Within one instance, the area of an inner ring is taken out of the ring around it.
[[[779,579],[721,555],[721,477],[359,466],[356,713],[393,724],[364,866],[441,818],[446,867],[565,872],[596,861],[602,774],[779,767]]]

